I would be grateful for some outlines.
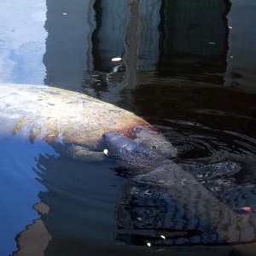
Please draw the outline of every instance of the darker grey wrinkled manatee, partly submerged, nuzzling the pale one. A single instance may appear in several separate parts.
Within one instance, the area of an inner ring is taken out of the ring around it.
[[[118,158],[120,165],[125,167],[129,177],[133,182],[137,182],[138,187],[145,184],[154,191],[160,191],[163,198],[172,200],[177,209],[183,212],[187,220],[182,226],[177,224],[183,218],[177,216],[176,220],[176,214],[173,213],[172,224],[175,228],[205,229],[207,236],[203,243],[255,241],[256,214],[241,215],[234,212],[189,172],[137,141],[112,131],[105,132],[102,137],[111,154]],[[132,191],[135,189],[134,187]],[[189,222],[189,219],[192,222]],[[204,228],[201,228],[202,226]]]

